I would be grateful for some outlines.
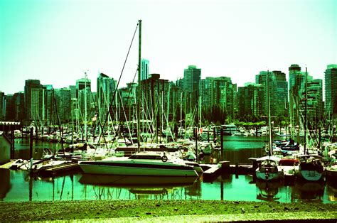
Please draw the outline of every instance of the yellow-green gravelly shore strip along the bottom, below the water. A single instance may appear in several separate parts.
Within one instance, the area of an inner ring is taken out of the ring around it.
[[[74,219],[109,222],[190,222],[191,219],[193,222],[291,219],[308,222],[326,219],[336,222],[337,204],[206,200],[0,202],[0,222]]]

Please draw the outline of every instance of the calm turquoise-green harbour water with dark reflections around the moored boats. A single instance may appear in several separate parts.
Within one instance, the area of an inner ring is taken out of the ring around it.
[[[231,163],[249,163],[247,158],[262,156],[262,137],[225,136],[225,159]],[[58,149],[59,145],[36,143],[34,158],[42,148]],[[16,158],[28,158],[28,141],[16,142]],[[176,178],[115,179],[80,172],[54,178],[31,176],[24,171],[0,169],[0,200],[4,202],[52,200],[241,200],[279,202],[336,202],[336,185],[319,183],[252,183],[251,175],[220,175],[213,183],[198,179],[181,183]],[[122,181],[121,181],[122,179]],[[164,180],[169,180],[167,184]],[[118,184],[116,182],[123,182]],[[137,185],[134,185],[137,182]],[[139,183],[144,183],[139,185]],[[130,183],[133,183],[130,185]]]

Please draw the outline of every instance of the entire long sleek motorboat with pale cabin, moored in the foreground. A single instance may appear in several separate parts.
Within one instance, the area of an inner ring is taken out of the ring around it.
[[[198,176],[193,166],[165,153],[138,152],[129,158],[109,158],[79,163],[84,173],[109,175]]]

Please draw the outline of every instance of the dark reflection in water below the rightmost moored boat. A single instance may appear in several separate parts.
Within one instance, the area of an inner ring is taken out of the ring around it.
[[[294,189],[295,200],[323,201],[324,182],[296,182]]]

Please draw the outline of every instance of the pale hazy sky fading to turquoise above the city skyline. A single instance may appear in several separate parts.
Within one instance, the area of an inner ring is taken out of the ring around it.
[[[240,87],[261,70],[288,78],[294,63],[323,79],[337,63],[337,0],[0,0],[0,91],[22,91],[27,79],[68,87],[85,71],[94,91],[98,72],[118,80],[139,19],[142,58],[168,80],[196,65],[201,78]],[[137,57],[135,38],[121,86]]]

